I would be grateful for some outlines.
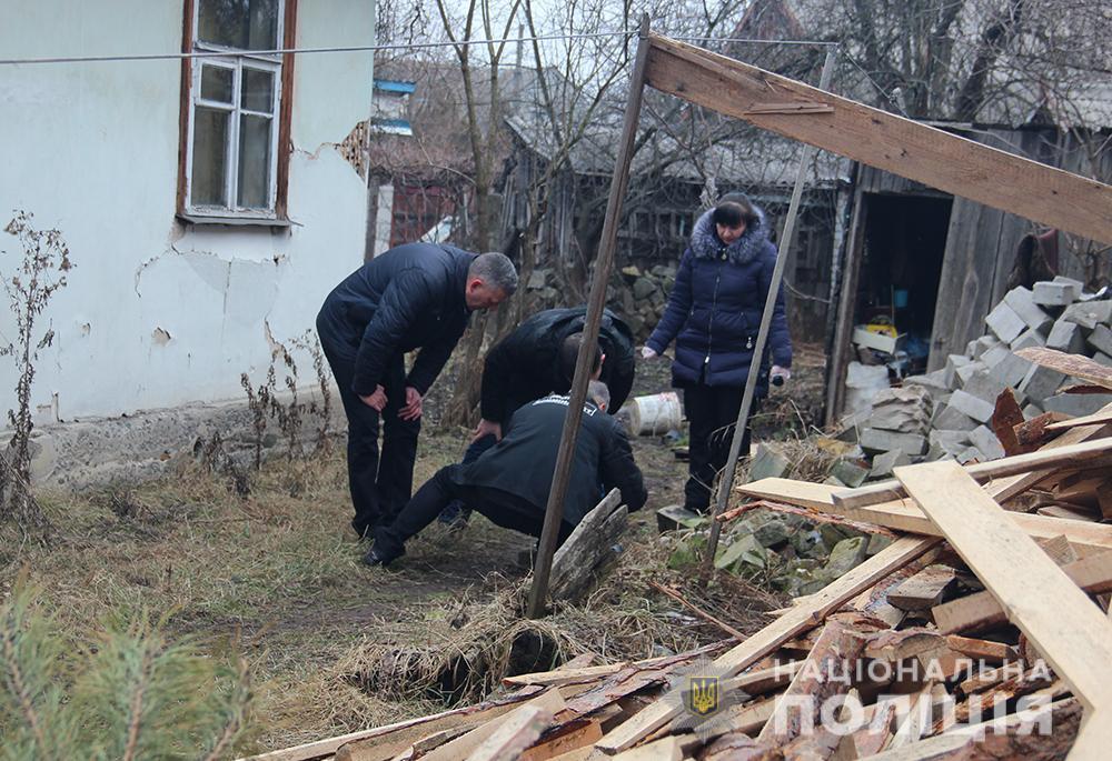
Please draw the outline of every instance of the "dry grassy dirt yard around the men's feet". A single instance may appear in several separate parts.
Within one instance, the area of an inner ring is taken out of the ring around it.
[[[803,366],[796,389],[814,371]],[[634,394],[667,387],[667,362],[648,363]],[[797,393],[766,404],[758,430],[810,425]],[[415,483],[456,461],[467,435],[427,424]],[[284,748],[444,710],[480,697],[503,673],[554,668],[580,652],[639,658],[724,638],[649,581],[757,628],[776,604],[771,595],[732,579],[703,591],[691,573],[666,568],[673,540],[658,537],[654,512],[682,500],[686,464],[673,443],[633,441],[649,502],[632,517],[618,568],[586,602],[536,623],[518,615],[528,574],[519,555],[533,540],[478,515],[456,537],[430,527],[389,569],[365,567],[366,545],[348,525],[341,444],[308,465],[274,458],[246,497],[192,462],[157,482],[43,494],[58,533],[48,548],[4,538],[0,585],[9,591],[27,569],[37,604],[76,644],[108,620],[139,615],[214,649],[235,643],[247,652],[255,693],[254,729],[237,750]]]

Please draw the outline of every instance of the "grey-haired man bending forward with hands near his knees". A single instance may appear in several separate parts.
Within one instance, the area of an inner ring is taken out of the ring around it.
[[[407,243],[367,262],[328,294],[317,332],[348,418],[351,528],[360,537],[409,499],[421,399],[471,311],[497,307],[516,288],[517,271],[500,253]],[[407,376],[405,353],[418,348]]]

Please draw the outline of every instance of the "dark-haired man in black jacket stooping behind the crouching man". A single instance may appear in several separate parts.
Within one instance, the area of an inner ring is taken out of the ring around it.
[[[464,464],[502,438],[516,409],[549,393],[568,392],[586,314],[586,307],[537,312],[487,352],[479,408],[483,419],[464,453]],[[633,388],[634,340],[629,327],[608,309],[598,328],[598,349],[593,378],[609,389],[606,411],[614,414]],[[454,502],[440,520],[458,529],[467,518],[468,511]]]

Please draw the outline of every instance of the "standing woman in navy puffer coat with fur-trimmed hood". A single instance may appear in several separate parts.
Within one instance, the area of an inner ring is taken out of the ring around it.
[[[672,382],[684,390],[691,423],[691,478],[684,488],[688,510],[706,511],[711,485],[726,464],[775,264],[776,247],[768,240],[764,212],[741,193],[723,197],[695,223],[664,317],[642,352],[655,357],[676,342]],[[767,346],[757,399],[768,392],[768,354],[771,374],[785,380],[791,376],[792,340],[783,290],[777,294]],[[746,425],[743,454],[748,443]]]

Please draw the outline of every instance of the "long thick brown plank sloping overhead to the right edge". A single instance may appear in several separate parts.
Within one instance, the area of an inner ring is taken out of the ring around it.
[[[648,84],[812,146],[1051,227],[1112,242],[1112,187],[838,98],[694,46],[651,36]],[[833,112],[754,113],[805,102]],[[995,249],[993,249],[995,250]],[[987,282],[991,293],[992,282]]]

